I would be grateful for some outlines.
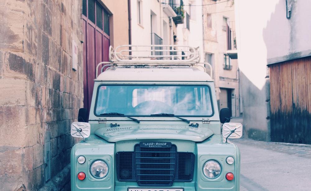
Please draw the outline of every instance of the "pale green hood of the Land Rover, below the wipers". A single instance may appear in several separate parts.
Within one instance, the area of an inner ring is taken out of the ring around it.
[[[108,142],[137,139],[178,139],[201,142],[213,135],[208,128],[172,125],[138,125],[100,128],[95,135]]]

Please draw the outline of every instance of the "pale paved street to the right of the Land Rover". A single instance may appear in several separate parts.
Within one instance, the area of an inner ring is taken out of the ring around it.
[[[241,152],[241,191],[310,190],[311,145],[231,141]]]

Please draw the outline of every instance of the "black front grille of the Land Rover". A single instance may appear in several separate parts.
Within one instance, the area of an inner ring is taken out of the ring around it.
[[[117,152],[117,177],[139,186],[171,186],[174,181],[193,179],[194,154],[177,152],[176,145],[149,148],[135,145],[133,152]]]

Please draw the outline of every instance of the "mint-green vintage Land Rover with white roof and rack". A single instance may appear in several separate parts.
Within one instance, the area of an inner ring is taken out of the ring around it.
[[[242,136],[218,111],[213,79],[188,46],[110,47],[90,114],[71,125],[71,189],[239,190]]]

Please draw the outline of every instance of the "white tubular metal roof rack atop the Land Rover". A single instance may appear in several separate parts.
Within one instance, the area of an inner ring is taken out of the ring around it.
[[[199,47],[179,45],[121,45],[115,49],[109,47],[109,62],[101,62],[96,67],[103,65],[101,72],[106,67],[120,65],[166,65],[166,66],[193,66],[200,63]],[[197,65],[204,69],[204,64]],[[108,68],[107,68],[108,69]]]

